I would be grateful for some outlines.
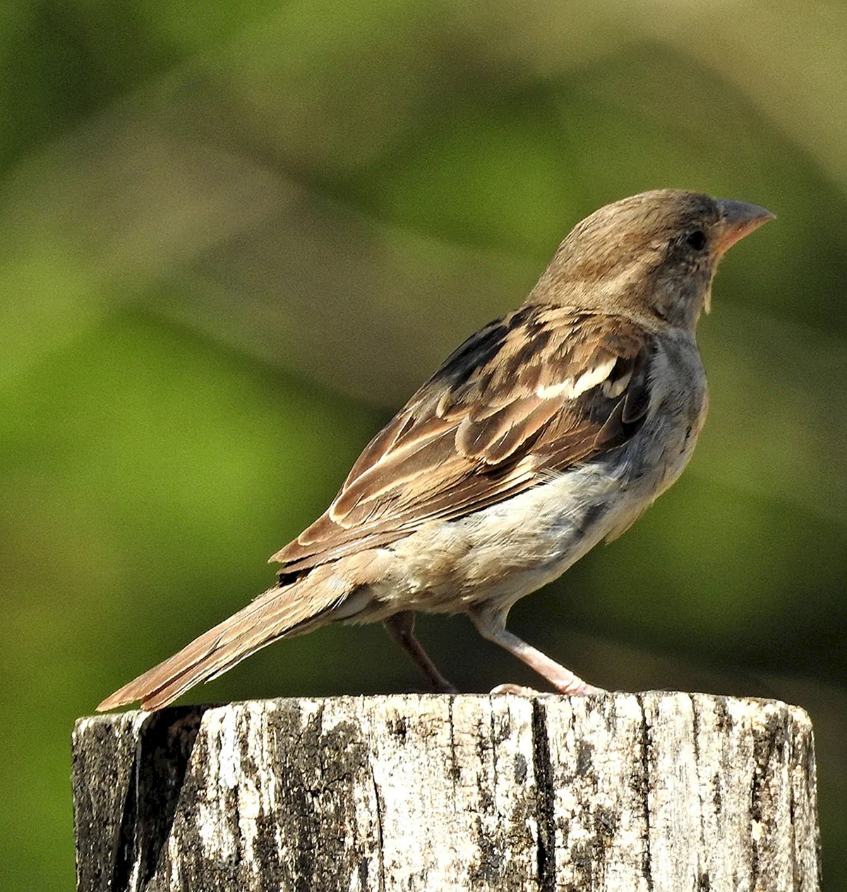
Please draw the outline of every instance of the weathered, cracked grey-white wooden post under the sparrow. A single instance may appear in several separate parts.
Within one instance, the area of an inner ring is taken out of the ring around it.
[[[809,717],[703,694],[80,719],[78,888],[813,892]]]

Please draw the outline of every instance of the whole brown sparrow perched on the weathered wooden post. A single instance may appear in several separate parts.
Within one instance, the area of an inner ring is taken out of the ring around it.
[[[582,220],[522,306],[461,344],[270,558],[275,585],[97,708],[159,709],[327,623],[381,622],[432,690],[455,692],[415,638],[417,611],[467,614],[563,694],[602,690],[506,616],[677,480],[706,415],[695,328],[715,269],[772,218],[662,189]]]

